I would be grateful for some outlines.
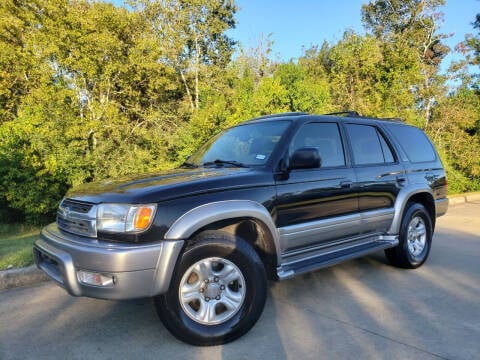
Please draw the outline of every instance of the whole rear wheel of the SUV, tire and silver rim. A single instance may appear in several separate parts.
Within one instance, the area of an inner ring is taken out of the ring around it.
[[[432,234],[432,220],[425,207],[408,203],[400,225],[399,244],[385,250],[388,261],[405,269],[418,268],[428,258]]]

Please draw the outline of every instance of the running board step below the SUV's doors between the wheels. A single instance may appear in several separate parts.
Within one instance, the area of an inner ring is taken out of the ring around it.
[[[398,236],[376,236],[362,240],[321,247],[320,250],[311,251],[310,256],[296,256],[297,259],[291,256],[290,261],[289,255],[285,254],[286,261],[277,267],[278,279],[285,280],[398,245]]]

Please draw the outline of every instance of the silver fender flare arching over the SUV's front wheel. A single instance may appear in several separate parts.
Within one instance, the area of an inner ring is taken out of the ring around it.
[[[272,217],[263,205],[250,200],[217,201],[193,208],[173,223],[165,234],[165,240],[185,240],[208,224],[241,217],[257,219],[267,226],[278,258],[281,254],[280,236]]]

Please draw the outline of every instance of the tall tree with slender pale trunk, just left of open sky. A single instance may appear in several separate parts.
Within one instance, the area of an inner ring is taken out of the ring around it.
[[[235,42],[225,32],[235,26],[233,0],[132,0],[162,49],[160,60],[180,75],[192,110],[200,106],[202,67],[225,67]],[[192,84],[193,83],[193,84]]]

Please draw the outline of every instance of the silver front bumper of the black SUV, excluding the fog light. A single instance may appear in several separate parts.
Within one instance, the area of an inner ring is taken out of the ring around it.
[[[183,240],[154,244],[113,244],[45,227],[34,244],[37,267],[71,295],[100,299],[151,297],[168,290]],[[82,283],[79,270],[114,280],[108,286]]]

